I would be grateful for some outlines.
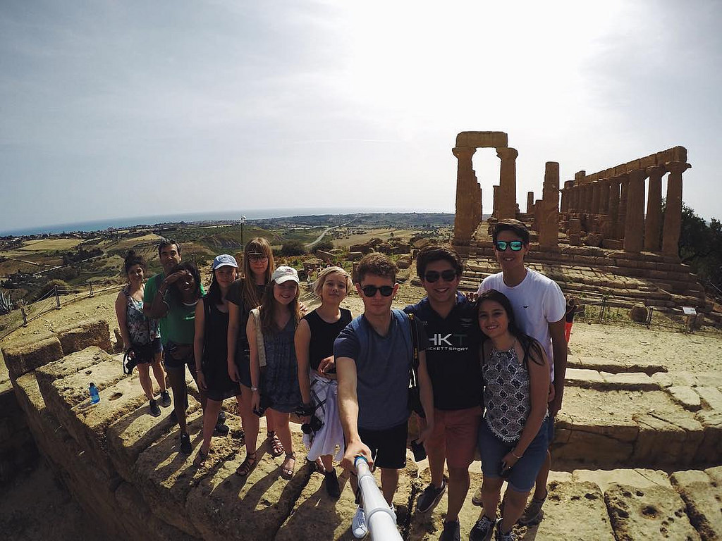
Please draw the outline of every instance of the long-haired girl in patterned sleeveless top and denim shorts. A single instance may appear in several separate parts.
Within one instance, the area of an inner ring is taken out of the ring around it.
[[[523,512],[549,439],[549,361],[541,344],[516,326],[509,299],[495,289],[477,301],[484,374],[484,418],[479,427],[484,515],[471,539],[496,526],[497,539],[514,540],[511,529]],[[496,519],[501,488],[508,482],[502,518]]]

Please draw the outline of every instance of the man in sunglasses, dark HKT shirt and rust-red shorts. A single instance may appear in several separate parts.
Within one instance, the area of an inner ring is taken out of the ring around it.
[[[425,442],[431,484],[419,496],[417,511],[425,513],[441,498],[446,488],[446,462],[448,511],[440,539],[453,541],[460,538],[458,512],[469,491],[469,465],[474,460],[482,416],[480,332],[474,305],[456,290],[462,271],[456,252],[425,247],[419,252],[416,269],[427,296],[404,311],[425,324],[435,419],[434,431]]]

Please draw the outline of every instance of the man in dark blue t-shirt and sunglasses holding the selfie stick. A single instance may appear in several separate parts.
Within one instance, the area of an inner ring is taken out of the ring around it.
[[[362,258],[356,289],[364,313],[352,320],[334,342],[339,414],[346,441],[342,465],[354,472],[356,457],[363,457],[370,467],[380,467],[381,490],[391,511],[399,470],[406,466],[409,382],[414,362],[412,325],[417,325],[419,334],[419,394],[427,416],[427,428],[419,441],[424,441],[434,428],[433,392],[423,351],[427,340],[417,320],[391,309],[399,289],[396,271],[393,261],[383,254]],[[351,485],[357,491],[355,475]],[[357,503],[361,503],[358,497],[357,492]],[[365,509],[359,505],[352,534],[361,539],[367,533]]]

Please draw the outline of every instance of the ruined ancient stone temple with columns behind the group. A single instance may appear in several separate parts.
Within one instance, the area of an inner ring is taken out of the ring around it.
[[[471,164],[474,151],[482,147],[494,147],[501,159],[499,183],[493,185],[494,206],[486,221],[482,219],[482,187]],[[477,289],[484,276],[498,271],[490,226],[516,218],[531,232],[526,260],[560,283],[565,292],[604,297],[625,307],[685,305],[710,312],[702,286],[677,254],[682,173],[691,167],[683,146],[589,175],[579,171],[561,185],[560,164],[547,162],[539,179],[541,198],[535,201],[534,193],[527,193],[524,213],[516,203],[518,151],[509,148],[506,133],[461,132],[453,153],[458,159],[453,245],[468,258],[462,287]]]

